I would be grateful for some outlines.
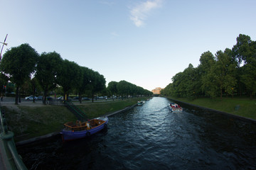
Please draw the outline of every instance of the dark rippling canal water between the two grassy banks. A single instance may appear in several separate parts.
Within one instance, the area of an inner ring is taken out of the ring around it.
[[[109,117],[107,130],[18,147],[28,169],[256,169],[256,125],[166,98]]]

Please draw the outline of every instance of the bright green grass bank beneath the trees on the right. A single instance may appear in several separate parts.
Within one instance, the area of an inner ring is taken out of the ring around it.
[[[220,100],[220,98],[196,98],[193,101],[187,98],[173,99],[256,120],[256,99],[250,100],[250,98],[223,98]]]

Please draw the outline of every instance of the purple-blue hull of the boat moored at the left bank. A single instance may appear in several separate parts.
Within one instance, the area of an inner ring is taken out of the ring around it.
[[[108,123],[108,118],[95,118],[98,120],[104,120],[105,123],[102,123],[101,125],[96,126],[95,128],[92,128],[90,130],[81,130],[81,131],[75,131],[73,132],[72,130],[65,130],[63,129],[60,134],[63,137],[63,141],[68,141],[68,140],[78,140],[84,137],[88,137],[90,135],[93,135],[97,132],[100,132],[100,130],[104,129],[107,127]]]

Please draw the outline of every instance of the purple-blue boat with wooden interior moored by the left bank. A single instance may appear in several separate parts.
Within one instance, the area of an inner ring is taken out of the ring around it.
[[[99,132],[103,128],[107,127],[107,123],[107,117],[94,118],[83,123],[77,120],[76,123],[65,123],[64,129],[60,134],[63,137],[63,141],[77,140]]]

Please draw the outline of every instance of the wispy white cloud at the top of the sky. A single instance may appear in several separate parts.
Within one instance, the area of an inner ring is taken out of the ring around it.
[[[144,21],[149,16],[149,13],[154,8],[159,8],[161,6],[162,0],[147,0],[137,6],[130,9],[130,19],[133,21],[135,26],[141,27],[144,25]]]

